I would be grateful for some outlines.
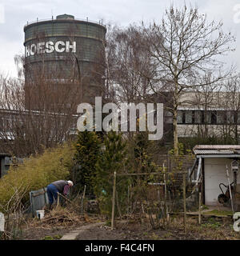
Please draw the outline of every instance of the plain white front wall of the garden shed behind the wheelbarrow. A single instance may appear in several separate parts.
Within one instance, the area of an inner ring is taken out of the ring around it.
[[[205,172],[205,204],[218,205],[218,195],[222,194],[219,188],[220,183],[228,185],[226,178],[226,164],[230,174],[230,182],[233,182],[233,174],[230,170],[231,160],[227,158],[205,158],[204,172]],[[222,186],[225,193],[226,188]]]

